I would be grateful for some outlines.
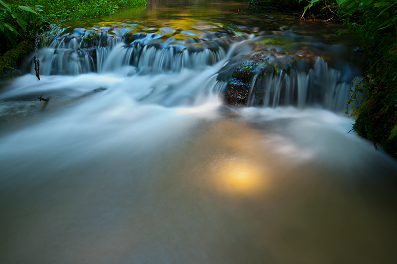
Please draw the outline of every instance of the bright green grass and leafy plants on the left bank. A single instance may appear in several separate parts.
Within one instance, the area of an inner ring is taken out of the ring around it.
[[[118,8],[144,4],[146,0],[0,0],[0,74],[13,70],[14,60],[26,55],[26,46],[22,52],[17,49],[18,44],[29,44],[32,50],[34,35],[48,29],[52,23],[98,17]],[[6,57],[9,52],[12,56]]]

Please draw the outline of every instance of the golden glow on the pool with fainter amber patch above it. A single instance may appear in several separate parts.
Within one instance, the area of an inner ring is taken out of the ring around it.
[[[263,159],[263,135],[245,124],[223,121],[214,125],[206,137],[214,141],[218,150],[228,153],[212,163],[217,191],[250,196],[268,190],[271,168]]]

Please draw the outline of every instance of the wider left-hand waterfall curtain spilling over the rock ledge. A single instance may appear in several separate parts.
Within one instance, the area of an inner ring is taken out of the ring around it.
[[[225,49],[218,45],[162,47],[155,39],[145,36],[127,43],[120,36],[99,37],[88,46],[86,38],[66,35],[39,51],[41,72],[43,75],[78,75],[114,71],[129,65],[136,67],[140,74],[179,72],[183,68],[202,70],[226,55]]]

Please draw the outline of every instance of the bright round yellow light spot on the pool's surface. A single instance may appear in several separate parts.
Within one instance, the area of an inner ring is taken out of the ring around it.
[[[250,161],[229,161],[220,166],[218,177],[218,187],[232,193],[258,193],[267,186],[263,169]]]

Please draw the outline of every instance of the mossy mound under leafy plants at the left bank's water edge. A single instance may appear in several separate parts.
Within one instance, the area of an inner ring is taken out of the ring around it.
[[[27,42],[19,43],[14,49],[4,53],[0,58],[0,75],[7,71],[14,70],[14,62],[24,58],[32,51],[32,47]]]

